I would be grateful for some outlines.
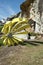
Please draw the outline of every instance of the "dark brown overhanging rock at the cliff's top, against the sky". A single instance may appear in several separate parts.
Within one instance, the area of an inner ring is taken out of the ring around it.
[[[31,4],[34,2],[34,0],[27,0],[25,2],[23,2],[21,5],[20,5],[20,9],[22,11],[22,16],[26,16],[26,17],[29,17],[30,15],[30,9],[31,9]]]

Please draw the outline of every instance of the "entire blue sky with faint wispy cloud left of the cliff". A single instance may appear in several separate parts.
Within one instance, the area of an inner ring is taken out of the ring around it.
[[[20,4],[25,0],[0,0],[0,19],[20,11]]]

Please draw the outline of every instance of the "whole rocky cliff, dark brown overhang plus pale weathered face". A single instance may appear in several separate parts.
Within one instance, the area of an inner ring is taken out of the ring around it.
[[[36,21],[35,32],[43,33],[43,0],[26,0],[20,6],[23,17]]]

